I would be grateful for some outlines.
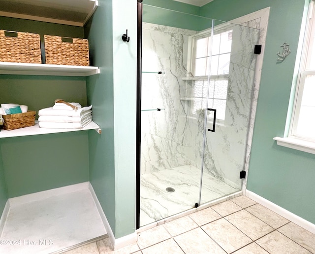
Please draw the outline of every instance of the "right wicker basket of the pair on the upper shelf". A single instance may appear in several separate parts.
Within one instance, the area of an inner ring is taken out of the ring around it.
[[[46,64],[90,66],[87,39],[44,35],[44,40]]]

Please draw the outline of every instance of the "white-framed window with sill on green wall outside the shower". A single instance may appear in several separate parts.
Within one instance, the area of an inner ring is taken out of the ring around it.
[[[315,154],[315,11],[311,2],[288,133],[278,145]]]

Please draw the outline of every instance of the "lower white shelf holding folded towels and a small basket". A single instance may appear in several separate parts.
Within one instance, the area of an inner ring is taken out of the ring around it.
[[[1,130],[0,138],[10,138],[10,137],[20,137],[20,136],[32,136],[40,134],[51,134],[60,132],[70,132],[70,131],[85,131],[85,130],[95,130],[100,133],[100,127],[95,123],[91,122],[82,129],[49,129],[49,128],[39,128],[38,121],[35,121],[34,126],[20,128],[16,130],[6,131]]]

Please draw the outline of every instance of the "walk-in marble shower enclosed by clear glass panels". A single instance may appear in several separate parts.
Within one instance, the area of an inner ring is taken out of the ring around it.
[[[259,39],[252,24],[141,7],[138,226],[242,188]]]

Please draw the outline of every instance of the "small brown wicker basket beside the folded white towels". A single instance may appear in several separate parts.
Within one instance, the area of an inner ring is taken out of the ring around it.
[[[2,115],[3,129],[10,131],[35,124],[36,111],[27,111],[26,113]]]

